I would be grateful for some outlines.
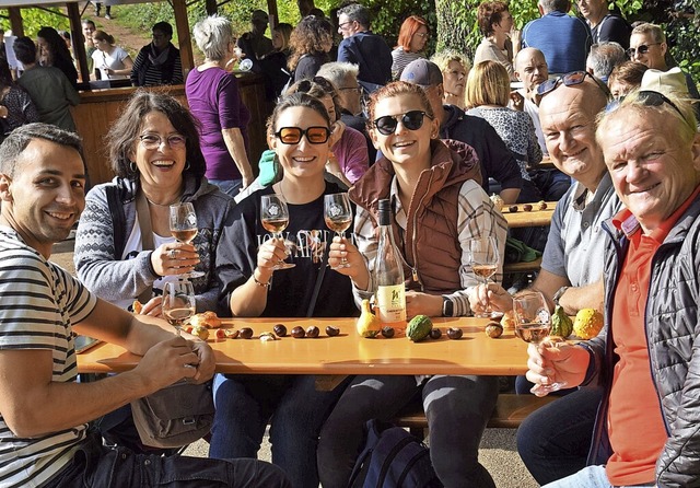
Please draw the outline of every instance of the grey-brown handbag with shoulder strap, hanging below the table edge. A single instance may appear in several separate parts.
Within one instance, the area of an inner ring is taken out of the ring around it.
[[[136,196],[143,249],[153,248],[153,231],[143,191]],[[141,294],[149,300],[151,290]],[[131,402],[133,423],[144,445],[182,448],[207,435],[214,421],[211,382],[179,381],[143,398]]]

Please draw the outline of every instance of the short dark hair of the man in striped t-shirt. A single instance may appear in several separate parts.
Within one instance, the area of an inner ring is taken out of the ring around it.
[[[82,142],[75,132],[60,129],[50,124],[33,123],[14,129],[0,144],[0,173],[14,176],[18,159],[34,139],[43,139],[59,146],[73,148],[82,159]]]

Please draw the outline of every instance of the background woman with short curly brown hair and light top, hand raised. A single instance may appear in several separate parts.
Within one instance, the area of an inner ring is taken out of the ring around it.
[[[521,44],[520,31],[513,31],[513,15],[508,10],[508,4],[500,1],[481,2],[477,10],[477,22],[483,39],[474,55],[474,66],[481,61],[500,62],[511,81],[517,81],[513,57]],[[511,36],[515,38],[511,39]]]

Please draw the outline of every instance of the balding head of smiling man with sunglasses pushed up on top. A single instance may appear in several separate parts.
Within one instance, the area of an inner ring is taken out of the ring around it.
[[[591,191],[595,191],[606,171],[595,127],[607,96],[586,77],[583,83],[572,86],[560,82],[539,104],[539,120],[552,162]]]

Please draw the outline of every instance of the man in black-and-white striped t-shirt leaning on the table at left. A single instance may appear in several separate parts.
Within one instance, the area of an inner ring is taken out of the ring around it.
[[[88,430],[179,380],[209,380],[214,358],[206,342],[97,299],[47,260],[84,207],[80,151],[74,133],[45,124],[23,126],[0,146],[0,486],[289,487],[257,461],[137,456],[104,448]],[[129,372],[77,383],[75,333],[143,358]]]

